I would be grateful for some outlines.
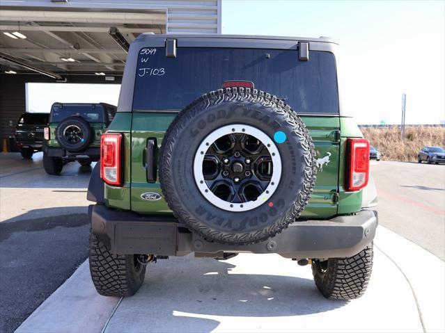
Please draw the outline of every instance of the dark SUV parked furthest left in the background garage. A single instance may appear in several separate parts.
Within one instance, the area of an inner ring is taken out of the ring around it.
[[[23,113],[15,127],[15,145],[24,159],[42,151],[43,131],[48,125],[49,113]]]

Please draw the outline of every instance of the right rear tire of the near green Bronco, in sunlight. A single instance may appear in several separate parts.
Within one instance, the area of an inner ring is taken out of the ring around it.
[[[352,257],[314,260],[312,274],[320,293],[331,300],[354,300],[368,287],[373,268],[373,243]]]

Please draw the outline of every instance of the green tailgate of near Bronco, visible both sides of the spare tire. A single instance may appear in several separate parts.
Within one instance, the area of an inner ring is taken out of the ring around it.
[[[155,180],[148,168],[150,144],[155,143],[154,165],[164,133],[177,113],[133,113],[131,157],[131,209],[138,213],[171,213],[159,186],[159,172]],[[338,200],[339,119],[338,117],[302,117],[309,128],[319,161],[317,181],[305,218],[329,218],[336,215]],[[329,158],[329,161],[328,161]],[[143,195],[143,193],[148,193]],[[157,195],[153,195],[157,193]],[[145,197],[145,200],[142,198]]]

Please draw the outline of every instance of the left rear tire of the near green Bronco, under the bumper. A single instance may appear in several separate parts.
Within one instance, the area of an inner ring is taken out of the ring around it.
[[[132,296],[141,288],[146,266],[136,255],[111,254],[95,234],[90,233],[90,273],[97,293],[102,296]]]

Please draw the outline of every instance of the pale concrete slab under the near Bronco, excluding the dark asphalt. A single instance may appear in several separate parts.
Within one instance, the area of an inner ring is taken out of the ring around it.
[[[326,300],[309,267],[276,254],[162,260],[123,300],[95,293],[86,261],[17,333],[443,332],[444,262],[384,227],[375,245],[368,291],[350,302]]]

